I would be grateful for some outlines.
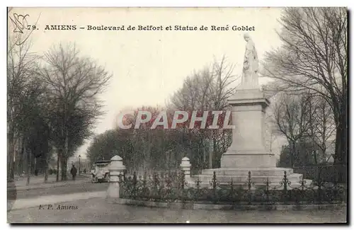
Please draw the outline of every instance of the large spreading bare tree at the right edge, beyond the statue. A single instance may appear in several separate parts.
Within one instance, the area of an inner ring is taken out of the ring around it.
[[[282,47],[267,53],[264,75],[285,82],[283,91],[310,90],[331,106],[336,123],[335,163],[346,164],[348,19],[346,8],[286,8]]]

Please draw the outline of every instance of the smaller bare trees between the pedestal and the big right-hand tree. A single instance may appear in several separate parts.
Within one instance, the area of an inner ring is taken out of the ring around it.
[[[324,98],[306,92],[298,96],[278,93],[272,112],[274,131],[287,139],[280,166],[316,165],[330,159],[328,147],[336,125]]]

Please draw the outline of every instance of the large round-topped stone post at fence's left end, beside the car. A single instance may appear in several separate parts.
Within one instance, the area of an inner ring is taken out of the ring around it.
[[[119,198],[120,176],[123,171],[125,171],[125,166],[123,165],[122,158],[120,156],[115,155],[110,159],[109,171],[110,180],[107,190],[107,198]]]

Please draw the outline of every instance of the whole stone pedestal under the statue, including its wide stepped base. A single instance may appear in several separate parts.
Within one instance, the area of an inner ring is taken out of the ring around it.
[[[222,154],[221,168],[203,170],[201,175],[192,176],[205,187],[215,171],[220,185],[233,181],[234,185],[244,185],[249,172],[254,185],[264,185],[265,180],[279,185],[287,174],[293,187],[299,185],[302,174],[293,173],[292,168],[276,168],[274,154],[265,148],[265,108],[269,101],[259,89],[239,88],[228,100],[232,105],[232,145]],[[312,183],[311,180],[307,184]]]

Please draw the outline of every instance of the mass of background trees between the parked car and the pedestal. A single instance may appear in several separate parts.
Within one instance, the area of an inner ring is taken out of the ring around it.
[[[137,111],[148,110],[152,113],[149,123],[142,124],[138,130],[120,130],[117,127],[98,135],[88,149],[89,158],[96,161],[118,154],[128,168],[135,170],[176,168],[183,156],[189,156],[198,169],[217,166],[221,154],[232,142],[231,130],[200,129],[200,122],[195,122],[195,127],[190,129],[190,117],[176,130],[164,130],[161,126],[151,130],[150,127],[161,111],[167,111],[170,122],[176,110],[198,111],[198,117],[206,111],[227,110],[227,98],[234,92],[232,84],[236,80],[232,70],[226,57],[222,57],[211,67],[195,71],[171,96],[166,108],[139,108],[130,120],[134,127]],[[219,115],[219,127],[223,125],[224,115]],[[207,126],[212,125],[214,117],[209,113],[208,118]]]

